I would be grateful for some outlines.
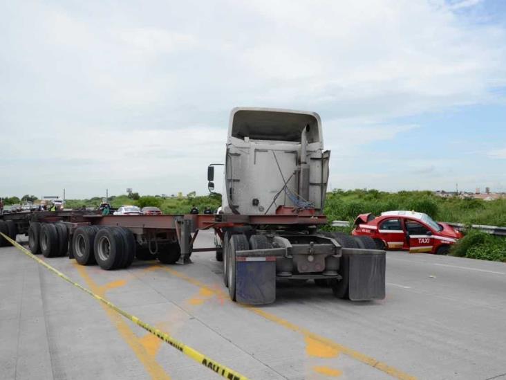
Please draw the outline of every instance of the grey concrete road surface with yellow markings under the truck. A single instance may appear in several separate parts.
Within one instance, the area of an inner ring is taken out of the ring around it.
[[[198,246],[212,246],[209,233]],[[42,257],[44,258],[44,257]],[[102,271],[46,259],[79,284],[250,379],[506,379],[506,264],[387,253],[386,299],[312,282],[230,302],[214,253]],[[0,248],[0,379],[219,379],[51,273]]]

